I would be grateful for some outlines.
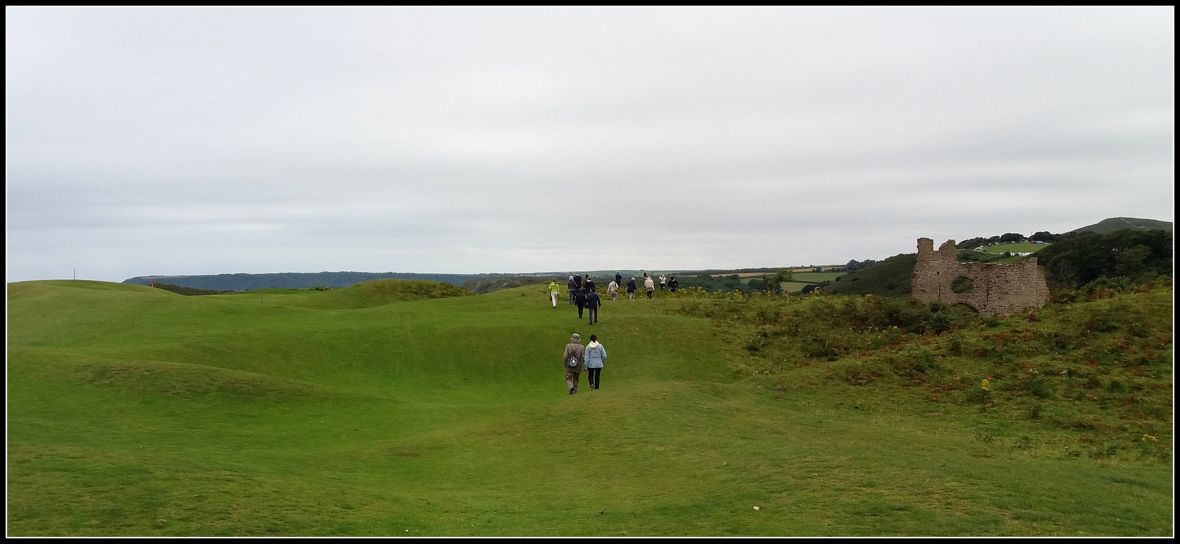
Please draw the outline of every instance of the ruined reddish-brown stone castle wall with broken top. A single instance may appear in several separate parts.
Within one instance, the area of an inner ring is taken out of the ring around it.
[[[1035,257],[1014,264],[958,262],[953,240],[935,251],[933,240],[918,238],[911,281],[912,296],[922,302],[966,304],[981,315],[1007,315],[1049,301],[1049,286]]]

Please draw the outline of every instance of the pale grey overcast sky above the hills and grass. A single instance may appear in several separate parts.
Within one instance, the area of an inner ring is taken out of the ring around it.
[[[820,264],[1173,221],[1172,7],[5,14],[8,281]]]

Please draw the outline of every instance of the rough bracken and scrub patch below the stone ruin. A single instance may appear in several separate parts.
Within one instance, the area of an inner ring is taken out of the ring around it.
[[[972,405],[981,440],[1062,457],[1171,459],[1172,287],[1120,280],[1057,291],[1007,319],[879,296],[686,293],[735,372],[780,392],[837,389],[887,406]],[[986,381],[984,381],[986,380]]]

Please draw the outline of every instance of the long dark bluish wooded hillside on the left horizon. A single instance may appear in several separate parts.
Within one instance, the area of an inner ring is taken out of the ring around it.
[[[463,286],[481,277],[502,277],[509,274],[411,274],[411,273],[281,273],[281,274],[217,274],[208,276],[136,276],[123,283],[150,286],[170,283],[195,289],[248,290],[267,288],[301,289],[308,287],[348,287],[368,280],[426,280]]]

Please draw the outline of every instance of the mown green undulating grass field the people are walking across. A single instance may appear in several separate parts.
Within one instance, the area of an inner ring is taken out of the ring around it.
[[[1140,457],[1074,455],[1075,431],[769,366],[740,301],[588,327],[542,286],[458,295],[11,283],[8,535],[1172,533],[1169,419]],[[572,332],[602,389],[566,394]]]

